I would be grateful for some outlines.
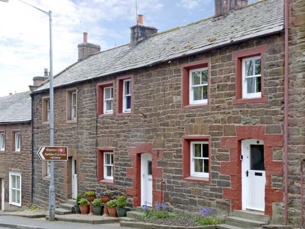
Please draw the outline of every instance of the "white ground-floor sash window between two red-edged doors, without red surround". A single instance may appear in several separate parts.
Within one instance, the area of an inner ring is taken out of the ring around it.
[[[209,177],[208,141],[191,141],[191,176]]]

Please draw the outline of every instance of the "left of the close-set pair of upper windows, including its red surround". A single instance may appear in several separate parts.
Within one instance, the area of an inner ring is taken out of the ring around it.
[[[98,117],[113,116],[114,91],[113,81],[97,84],[98,91]]]

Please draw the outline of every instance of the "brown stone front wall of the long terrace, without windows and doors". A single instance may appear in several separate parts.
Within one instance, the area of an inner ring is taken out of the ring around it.
[[[264,95],[267,102],[233,105],[235,98],[235,61],[232,51],[267,45],[264,54]],[[210,101],[203,108],[181,109],[181,65],[208,60],[210,63]],[[236,136],[235,126],[260,126],[265,134],[283,134],[284,127],[284,36],[233,45],[181,58],[141,70],[134,74],[134,112],[132,116],[97,118],[96,83],[114,80],[116,75],[95,81],[75,83],[78,89],[77,123],[66,123],[66,91],[70,87],[55,89],[55,145],[68,146],[77,151],[78,191],[114,189],[126,193],[133,187],[127,175],[132,167],[129,148],[137,144],[152,144],[161,149],[162,178],[156,179],[156,191],[163,186],[164,201],[181,209],[211,207],[220,215],[231,214],[231,198],[223,198],[223,188],[232,187],[231,176],[221,173],[221,163],[230,162],[230,150],[221,146],[223,137]],[[42,96],[34,97],[34,151],[48,144],[49,126],[42,124]],[[117,95],[114,82],[114,95]],[[114,97],[114,101],[117,98]],[[114,106],[115,107],[115,106]],[[115,114],[115,108],[114,108]],[[205,135],[211,139],[211,182],[198,183],[182,179],[182,137]],[[115,185],[97,182],[97,147],[114,148]],[[282,146],[271,148],[271,158],[283,160]],[[55,163],[56,197],[62,201],[65,194],[67,164]],[[280,169],[281,170],[281,169]],[[34,202],[45,206],[48,201],[48,182],[41,178],[42,163],[35,155]],[[270,187],[283,190],[283,176],[270,176]],[[281,192],[281,191],[280,191]],[[129,197],[129,203],[133,199]],[[282,202],[282,201],[280,201]]]

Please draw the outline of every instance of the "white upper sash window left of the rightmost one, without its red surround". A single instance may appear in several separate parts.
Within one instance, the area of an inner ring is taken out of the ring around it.
[[[207,68],[193,69],[189,71],[190,79],[190,104],[207,104]]]

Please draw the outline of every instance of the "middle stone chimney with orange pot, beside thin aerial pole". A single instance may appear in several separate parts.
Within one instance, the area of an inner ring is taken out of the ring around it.
[[[130,44],[135,45],[139,41],[144,40],[152,34],[158,33],[158,28],[153,26],[144,25],[144,16],[138,15],[138,24],[130,27],[131,36],[130,36]]]

